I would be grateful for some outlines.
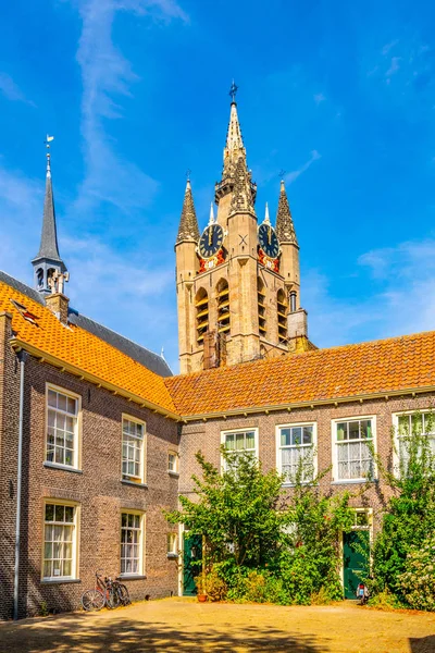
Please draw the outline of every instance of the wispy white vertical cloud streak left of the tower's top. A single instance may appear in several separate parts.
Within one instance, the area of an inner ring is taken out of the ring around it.
[[[122,118],[120,99],[130,97],[137,81],[129,62],[112,41],[112,27],[120,11],[149,15],[156,20],[187,20],[173,0],[89,0],[79,4],[83,30],[77,51],[82,69],[82,135],[86,178],[76,209],[89,211],[109,202],[121,211],[150,204],[158,183],[135,163],[127,161],[107,133],[107,121]]]

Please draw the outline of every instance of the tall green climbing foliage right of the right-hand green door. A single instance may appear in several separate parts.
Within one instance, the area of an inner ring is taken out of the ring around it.
[[[425,420],[426,430],[432,430],[432,414],[426,414]],[[402,430],[400,451],[396,451],[400,457],[396,476],[380,465],[394,495],[374,543],[373,580],[369,583],[373,593],[387,589],[399,602],[409,605],[407,596],[411,594],[402,584],[402,575],[413,559],[408,555],[414,555],[435,532],[435,457],[428,438],[419,426],[421,415],[414,414],[411,423],[411,432]]]

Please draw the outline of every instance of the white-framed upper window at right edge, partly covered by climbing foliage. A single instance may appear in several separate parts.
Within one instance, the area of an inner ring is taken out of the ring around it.
[[[412,410],[393,415],[396,451],[394,456],[395,471],[406,469],[412,447],[412,438],[427,439],[431,453],[435,456],[435,414],[432,410]],[[421,449],[421,445],[419,447]]]

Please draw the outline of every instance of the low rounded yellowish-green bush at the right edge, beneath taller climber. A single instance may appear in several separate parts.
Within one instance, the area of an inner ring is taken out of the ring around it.
[[[407,603],[415,609],[435,611],[435,535],[407,555],[407,570],[398,582]]]

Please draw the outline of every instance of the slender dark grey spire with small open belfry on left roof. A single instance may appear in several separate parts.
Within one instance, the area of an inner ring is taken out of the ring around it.
[[[54,272],[64,274],[66,266],[59,254],[58,230],[55,223],[53,186],[51,181],[51,155],[50,143],[53,136],[46,139],[47,170],[46,170],[46,195],[44,199],[42,231],[39,251],[32,263],[35,270],[36,287],[41,293],[51,293]]]

